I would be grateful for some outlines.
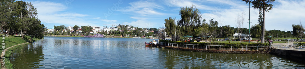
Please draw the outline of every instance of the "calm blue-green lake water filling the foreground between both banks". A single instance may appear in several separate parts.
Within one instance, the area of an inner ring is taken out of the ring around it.
[[[270,54],[202,53],[145,46],[152,39],[45,37],[18,48],[10,59],[17,69],[117,68],[292,68],[305,67]]]

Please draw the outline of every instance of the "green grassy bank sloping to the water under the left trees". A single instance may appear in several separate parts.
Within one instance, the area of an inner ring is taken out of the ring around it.
[[[25,36],[24,39],[21,39],[21,36],[4,37],[4,41],[5,41],[5,48],[4,49],[6,49],[8,47],[12,47],[14,45],[22,44],[22,43],[28,44],[27,42],[30,42],[30,38],[31,38],[30,36]],[[38,40],[38,39],[33,38],[33,40]],[[23,45],[25,45],[25,44],[23,44]],[[23,46],[23,45],[18,45],[18,46],[15,46],[15,47],[12,47],[12,48],[6,50],[4,60],[5,60],[5,67],[7,69],[13,69],[13,64],[9,61],[12,51],[15,50],[18,47]],[[0,49],[1,53],[2,53],[2,50],[3,49],[1,48]]]

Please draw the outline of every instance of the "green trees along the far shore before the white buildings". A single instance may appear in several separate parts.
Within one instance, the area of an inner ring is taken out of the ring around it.
[[[102,28],[107,28],[107,26],[103,26]],[[100,30],[100,32],[97,32],[102,35],[110,35],[110,36],[153,36],[156,37],[157,35],[154,32],[147,32],[147,31],[158,31],[159,29],[156,28],[138,28],[134,26],[128,26],[128,25],[117,25],[117,30],[109,30],[104,31]],[[81,32],[78,31],[79,26],[75,25],[73,26],[73,29],[69,29],[67,26],[61,25],[61,26],[54,26],[55,32],[48,33],[49,35],[69,35],[69,36],[79,36],[79,35],[85,35],[89,36],[90,32],[93,31],[93,28],[91,26],[81,26]],[[145,29],[147,31],[145,31]],[[64,31],[66,30],[66,31]],[[73,30],[73,32],[70,33],[70,30]],[[63,32],[62,32],[63,31]]]

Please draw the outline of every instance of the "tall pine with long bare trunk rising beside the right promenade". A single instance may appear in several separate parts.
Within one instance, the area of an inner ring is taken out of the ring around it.
[[[263,18],[262,18],[262,29],[265,29],[265,12],[268,12],[268,10],[273,9],[273,5],[272,3],[275,0],[242,0],[245,1],[245,3],[252,3],[252,7],[254,9],[260,9],[263,12]],[[265,31],[262,31],[262,40],[260,41],[260,43],[264,43],[264,37],[265,37]]]

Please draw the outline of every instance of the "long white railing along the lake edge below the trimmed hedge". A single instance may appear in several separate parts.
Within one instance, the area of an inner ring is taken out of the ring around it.
[[[226,50],[226,51],[267,51],[268,46],[225,46],[225,45],[198,45],[198,44],[178,44],[178,43],[163,43],[162,46],[200,49],[200,50]]]

